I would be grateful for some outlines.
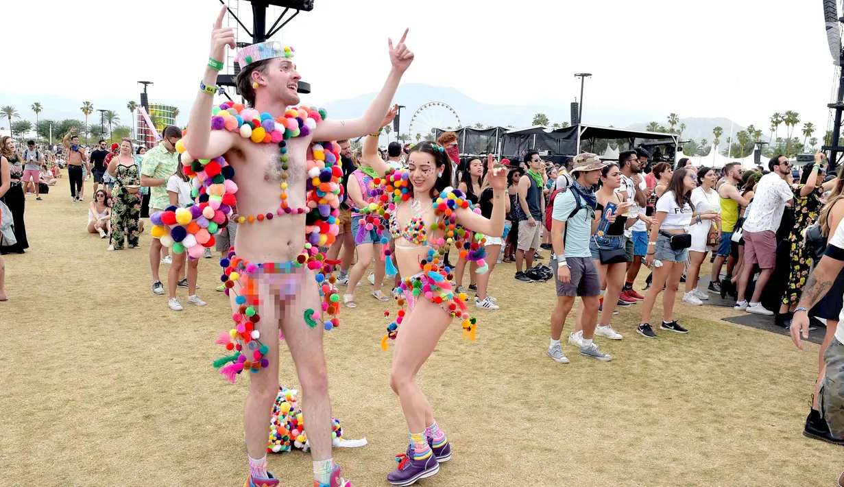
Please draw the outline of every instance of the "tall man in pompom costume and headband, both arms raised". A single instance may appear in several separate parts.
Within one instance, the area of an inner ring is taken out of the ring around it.
[[[326,119],[325,111],[295,107],[300,101],[300,75],[292,59],[294,50],[279,42],[263,42],[236,55],[241,67],[238,89],[254,108],[230,102],[214,106],[225,46],[235,48],[233,31],[222,27],[224,16],[222,8],[181,149],[197,159],[191,170],[200,181],[194,187],[199,206],[207,204],[201,216],[208,219],[208,209],[210,220],[219,227],[234,216],[231,204],[236,203],[238,210],[235,246],[220,262],[225,268],[220,280],[232,300],[235,327],[217,341],[231,355],[215,365],[232,381],[238,374],[251,379],[244,414],[250,466],[245,485],[279,485],[267,472],[266,441],[279,390],[279,341],[275,336],[280,329],[306,397],[303,406],[314,460],[314,486],[347,486],[349,482],[342,479],[331,458],[331,406],[322,352],[323,329],[339,324],[339,295],[331,277],[336,262],[327,262],[317,250],[318,246],[330,246],[338,233],[342,170],[337,144],[316,141],[376,132],[414,56],[404,45],[404,36],[397,46],[390,41],[392,68],[370,108],[358,119],[333,121]],[[214,162],[220,173],[212,176],[217,170]],[[228,181],[234,186],[226,187]],[[232,196],[226,198],[229,194]],[[181,223],[176,221],[176,225]],[[189,239],[189,243],[195,240]]]

